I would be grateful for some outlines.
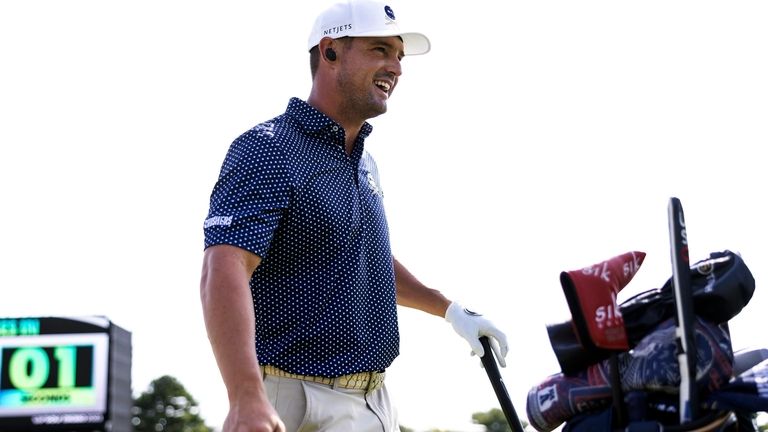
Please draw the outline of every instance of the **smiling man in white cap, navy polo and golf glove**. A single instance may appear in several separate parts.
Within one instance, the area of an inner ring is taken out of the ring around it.
[[[429,40],[374,0],[342,2],[309,39],[312,89],[237,138],[204,224],[201,302],[230,402],[224,432],[397,431],[383,383],[397,307],[445,317],[504,365],[506,336],[419,282],[392,255],[376,165],[364,150]],[[255,335],[255,349],[254,349]]]

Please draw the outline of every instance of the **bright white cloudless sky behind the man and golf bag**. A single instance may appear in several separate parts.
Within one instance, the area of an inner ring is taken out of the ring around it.
[[[401,0],[402,3],[402,0]],[[306,99],[317,1],[0,2],[0,317],[106,316],[132,334],[132,391],[179,379],[219,427],[203,325],[202,223],[229,144]],[[395,255],[511,345],[505,385],[559,371],[562,271],[647,254],[619,301],[690,257],[739,252],[756,280],[735,349],[768,347],[768,4],[437,0],[393,4],[432,51],[406,57],[366,146]],[[404,426],[481,430],[498,407],[469,345],[400,309],[387,382]]]

